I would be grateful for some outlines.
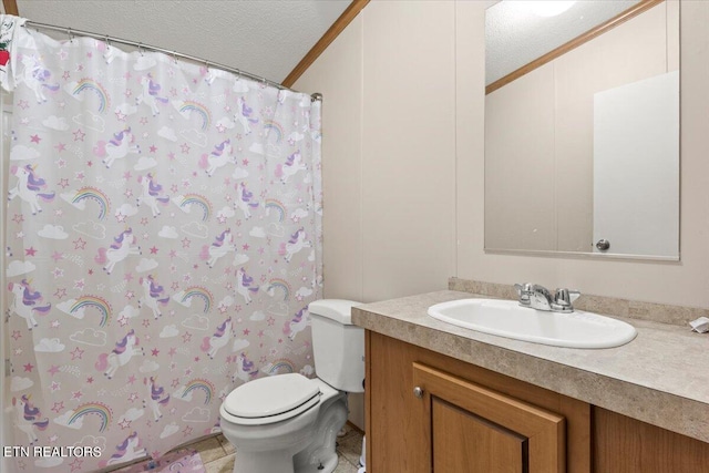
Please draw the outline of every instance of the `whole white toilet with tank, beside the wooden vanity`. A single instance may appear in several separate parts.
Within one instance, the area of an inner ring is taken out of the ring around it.
[[[329,473],[348,415],[347,393],[363,392],[364,330],[350,309],[361,302],[310,302],[317,378],[299,373],[249,381],[219,408],[224,436],[236,448],[234,473]]]

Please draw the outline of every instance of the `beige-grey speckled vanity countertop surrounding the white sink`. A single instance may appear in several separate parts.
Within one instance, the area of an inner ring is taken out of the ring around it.
[[[638,336],[617,348],[574,349],[496,337],[428,315],[476,296],[442,290],[367,304],[353,323],[489,370],[709,442],[709,333],[614,317]],[[531,309],[532,310],[532,309]]]

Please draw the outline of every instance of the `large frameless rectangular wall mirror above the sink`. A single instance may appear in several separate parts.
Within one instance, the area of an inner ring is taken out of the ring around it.
[[[679,1],[504,0],[485,54],[485,250],[678,260]]]

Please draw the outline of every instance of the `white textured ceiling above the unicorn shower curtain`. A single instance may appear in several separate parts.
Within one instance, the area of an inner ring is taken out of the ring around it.
[[[20,17],[282,82],[350,0],[17,0]],[[50,33],[56,38],[56,33]],[[120,45],[119,45],[120,47]]]

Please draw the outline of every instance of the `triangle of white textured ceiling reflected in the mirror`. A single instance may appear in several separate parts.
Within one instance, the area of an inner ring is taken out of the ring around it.
[[[639,0],[583,0],[556,17],[534,14],[530,0],[485,10],[485,85],[612,19]],[[546,3],[553,3],[547,1]]]

